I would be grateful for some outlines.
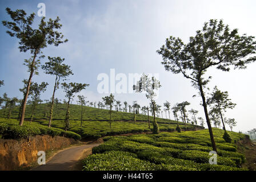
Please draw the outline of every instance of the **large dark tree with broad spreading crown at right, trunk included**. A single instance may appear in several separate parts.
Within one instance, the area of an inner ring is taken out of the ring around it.
[[[229,71],[231,65],[234,65],[234,68],[246,68],[246,64],[255,61],[254,36],[240,36],[237,29],[230,31],[229,26],[223,24],[222,20],[211,19],[204,24],[202,30],[198,30],[195,36],[190,37],[189,43],[185,44],[181,39],[170,36],[157,52],[163,57],[162,64],[166,71],[182,73],[199,90],[211,146],[217,151],[203,90],[210,77],[203,76],[210,67]]]

